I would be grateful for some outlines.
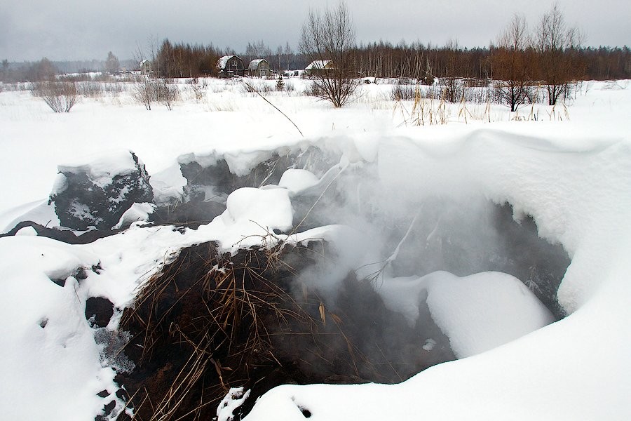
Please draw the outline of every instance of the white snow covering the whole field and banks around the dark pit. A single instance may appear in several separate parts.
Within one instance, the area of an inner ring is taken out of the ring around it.
[[[343,109],[299,95],[301,79],[287,83],[295,91],[265,95],[304,136],[232,81],[208,81],[198,101],[183,86],[172,111],[156,104],[151,112],[125,92],[83,98],[69,114],[53,114],[27,92],[0,92],[1,232],[27,219],[59,225],[46,206],[58,166],[130,149],[146,164],[156,201],[167,201],[182,194],[182,156],[201,161],[219,154],[233,173],[247,173],[266,151],[319,145],[341,154],[340,172],[376,165],[380,186],[395,192],[381,206],[409,219],[416,210],[402,209],[406,203],[430,196],[470,204],[471,212],[480,210],[474,209],[480,198],[508,202],[515,218],[532,215],[539,235],[561,243],[571,258],[558,293],[569,315],[550,323],[529,289],[506,274],[403,278],[385,270],[379,285],[386,304],[414,319],[425,297],[460,359],[399,385],[278,387],[247,420],[631,419],[630,81],[585,82],[565,107],[528,106],[517,116],[500,105],[442,105],[445,124],[425,126],[414,123],[412,102],[389,100],[386,83],[362,85]],[[438,112],[441,105],[425,107]],[[104,352],[104,331],[116,329],[120,312],[95,333],[83,316],[86,299],[106,297],[121,310],[183,246],[217,240],[234,250],[267,241],[271,229],[292,224],[292,197],[322,182],[294,170],[278,188],[240,189],[224,214],[184,234],[133,224],[86,245],[27,228],[0,238],[3,417],[94,419],[116,392],[110,367],[129,362]],[[288,239],[355,248],[346,262],[358,269],[380,251],[360,246],[369,234],[335,225]],[[96,265],[79,279],[81,267]],[[104,390],[106,398],[97,396]],[[116,400],[114,413],[122,406]]]

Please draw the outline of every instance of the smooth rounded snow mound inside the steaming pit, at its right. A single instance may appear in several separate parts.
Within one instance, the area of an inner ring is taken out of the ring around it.
[[[378,292],[386,306],[404,314],[412,326],[419,318],[419,305],[427,305],[459,359],[489,351],[554,321],[522,281],[501,272],[462,278],[433,272],[421,278],[384,279]]]

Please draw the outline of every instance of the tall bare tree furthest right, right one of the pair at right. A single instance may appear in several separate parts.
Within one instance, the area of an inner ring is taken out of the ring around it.
[[[537,53],[549,105],[555,105],[559,98],[568,93],[569,82],[577,76],[571,50],[578,48],[581,39],[582,35],[576,27],[566,25],[558,4],[552,6],[552,10],[539,20]]]

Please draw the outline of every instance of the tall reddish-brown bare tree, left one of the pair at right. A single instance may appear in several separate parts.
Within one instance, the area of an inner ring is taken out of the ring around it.
[[[498,100],[515,112],[531,95],[531,40],[526,20],[514,15],[513,20],[491,47],[491,66]]]

